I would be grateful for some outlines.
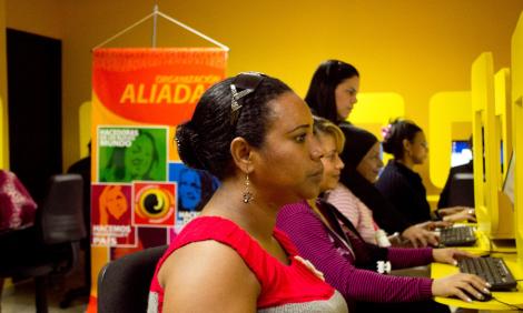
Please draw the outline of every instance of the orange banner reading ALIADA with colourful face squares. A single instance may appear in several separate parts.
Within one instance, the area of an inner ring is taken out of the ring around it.
[[[219,182],[185,166],[174,135],[225,78],[219,48],[96,49],[92,61],[91,275],[168,244]],[[88,312],[96,312],[96,284]]]

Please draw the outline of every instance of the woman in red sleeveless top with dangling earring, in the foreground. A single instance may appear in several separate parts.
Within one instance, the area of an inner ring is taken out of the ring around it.
[[[277,79],[241,73],[206,91],[176,141],[184,163],[221,184],[158,263],[149,310],[347,312],[275,230],[279,208],[314,196],[322,180],[305,102]]]

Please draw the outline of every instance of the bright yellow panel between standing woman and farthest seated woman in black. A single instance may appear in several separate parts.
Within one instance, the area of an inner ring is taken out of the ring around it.
[[[379,141],[383,140],[381,128],[388,124],[392,119],[405,115],[405,101],[394,92],[358,93],[358,102],[351,113],[349,120],[357,127],[374,133]],[[383,162],[386,164],[392,155],[384,153]]]

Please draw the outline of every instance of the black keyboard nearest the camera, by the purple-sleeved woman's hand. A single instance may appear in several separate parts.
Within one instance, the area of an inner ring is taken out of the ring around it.
[[[475,258],[462,259],[457,261],[462,273],[476,274],[487,281],[492,291],[507,291],[517,285],[514,276],[500,258]]]

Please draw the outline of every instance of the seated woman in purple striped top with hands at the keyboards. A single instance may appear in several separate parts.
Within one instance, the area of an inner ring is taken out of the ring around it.
[[[343,133],[333,123],[315,122],[315,133],[324,148],[320,192],[336,186],[344,166],[338,158]],[[319,194],[319,193],[318,193]],[[343,231],[339,222],[348,229]],[[433,296],[457,296],[471,301],[489,293],[486,283],[471,274],[443,279],[384,275],[386,262],[392,269],[428,264],[433,261],[455,264],[456,258],[470,256],[454,249],[378,248],[365,243],[348,220],[326,202],[312,198],[287,204],[278,213],[276,225],[286,232],[300,255],[323,272],[325,281],[347,300],[349,312],[450,312],[432,301]],[[381,265],[377,265],[377,261]],[[373,311],[375,310],[375,311]]]

